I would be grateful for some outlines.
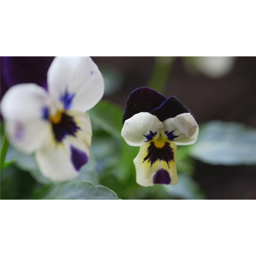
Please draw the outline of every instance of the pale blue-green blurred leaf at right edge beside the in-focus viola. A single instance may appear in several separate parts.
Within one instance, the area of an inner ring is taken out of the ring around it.
[[[209,164],[256,164],[256,129],[236,122],[210,121],[200,126],[191,155]]]

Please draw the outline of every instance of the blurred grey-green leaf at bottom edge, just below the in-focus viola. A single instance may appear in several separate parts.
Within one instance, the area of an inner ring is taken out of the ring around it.
[[[172,197],[183,199],[183,204],[205,204],[206,197],[199,184],[187,175],[179,175],[175,185],[164,186]]]

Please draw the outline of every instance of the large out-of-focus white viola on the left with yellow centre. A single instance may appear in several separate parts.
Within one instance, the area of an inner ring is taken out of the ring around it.
[[[17,84],[4,95],[1,113],[9,139],[20,151],[35,153],[47,178],[73,179],[88,162],[92,128],[84,112],[103,96],[102,75],[90,57],[55,57],[47,84],[40,85]]]

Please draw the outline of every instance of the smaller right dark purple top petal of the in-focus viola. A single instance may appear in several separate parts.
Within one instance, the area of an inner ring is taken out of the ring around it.
[[[175,96],[167,98],[160,106],[150,112],[152,115],[158,117],[160,121],[164,121],[168,118],[176,117],[183,113],[190,113],[190,110]]]

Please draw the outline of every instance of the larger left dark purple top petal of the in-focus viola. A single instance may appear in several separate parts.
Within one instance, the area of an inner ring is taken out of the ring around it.
[[[133,91],[126,101],[123,123],[140,112],[149,112],[161,105],[166,98],[157,91],[142,87]]]

